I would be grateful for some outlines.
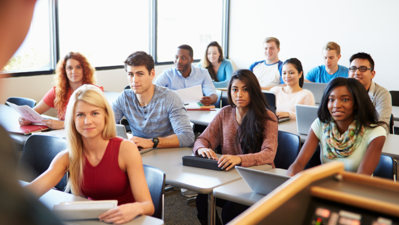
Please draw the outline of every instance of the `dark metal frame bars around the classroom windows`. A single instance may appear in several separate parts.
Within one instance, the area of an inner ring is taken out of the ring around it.
[[[158,15],[158,1],[157,0],[148,0],[149,1],[149,52],[154,58],[155,65],[172,65],[173,61],[168,62],[158,62],[157,61],[157,15]],[[230,9],[230,0],[223,0],[223,19],[222,19],[222,30],[221,30],[221,47],[223,48],[224,55],[228,58],[229,51],[229,9]],[[12,77],[29,77],[29,76],[37,76],[37,75],[53,75],[55,74],[55,70],[57,68],[57,62],[60,60],[59,56],[59,24],[58,24],[58,0],[50,1],[50,9],[49,9],[50,18],[50,32],[52,38],[50,38],[50,48],[53,57],[53,67],[54,70],[41,70],[41,71],[29,71],[29,72],[5,72],[0,74],[10,74]],[[194,62],[199,62],[200,59],[195,59]],[[116,70],[123,69],[123,65],[112,65],[112,66],[98,66],[96,67],[96,71],[102,70]]]

